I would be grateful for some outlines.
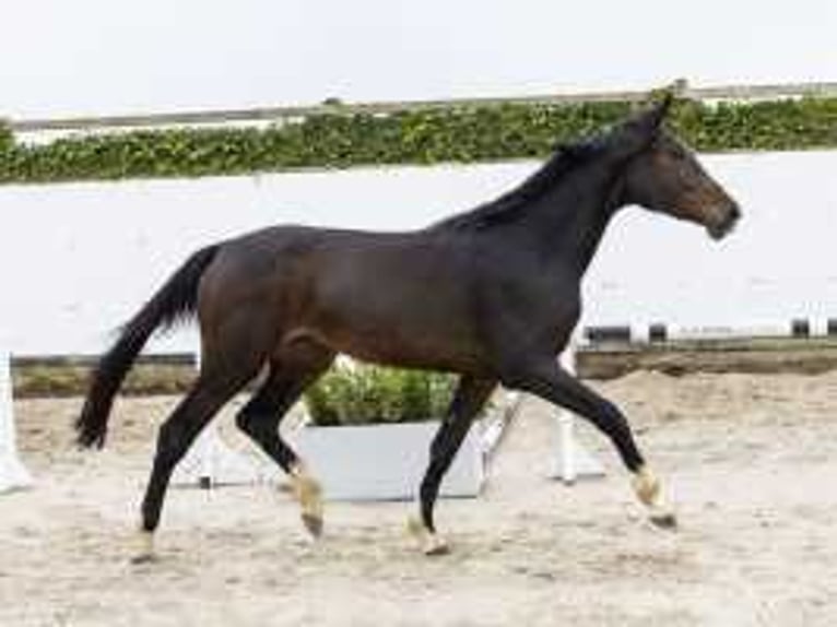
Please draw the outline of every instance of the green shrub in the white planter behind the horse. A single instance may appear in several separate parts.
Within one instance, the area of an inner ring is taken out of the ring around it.
[[[415,423],[444,417],[456,378],[370,365],[335,366],[304,395],[316,425]]]

